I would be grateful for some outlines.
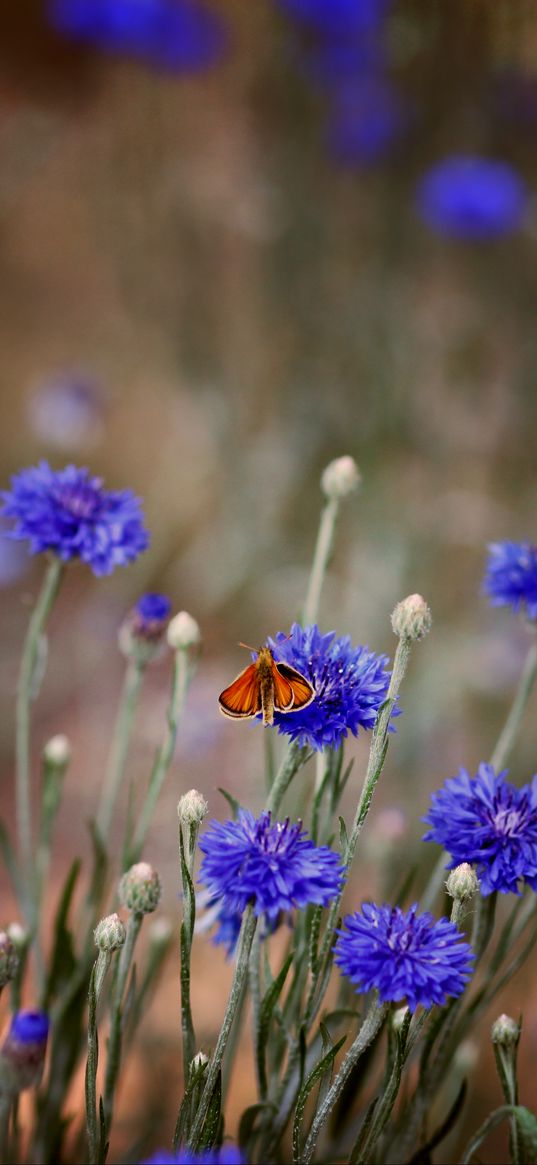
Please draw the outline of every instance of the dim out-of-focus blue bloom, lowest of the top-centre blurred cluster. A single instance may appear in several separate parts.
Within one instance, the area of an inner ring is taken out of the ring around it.
[[[367,165],[384,157],[409,125],[409,111],[395,86],[381,75],[340,85],[331,101],[326,141],[346,165]]]

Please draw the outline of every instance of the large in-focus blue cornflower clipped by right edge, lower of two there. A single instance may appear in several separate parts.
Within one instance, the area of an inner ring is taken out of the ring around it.
[[[447,849],[450,868],[476,866],[481,894],[518,894],[521,880],[537,890],[537,776],[517,789],[492,764],[475,777],[461,769],[432,795],[423,820],[432,826],[424,841]]]

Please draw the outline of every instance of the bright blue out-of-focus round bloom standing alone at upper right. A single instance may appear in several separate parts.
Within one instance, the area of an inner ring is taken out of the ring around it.
[[[441,234],[494,239],[521,226],[528,205],[523,178],[507,162],[474,155],[445,158],[422,178],[421,218]]]

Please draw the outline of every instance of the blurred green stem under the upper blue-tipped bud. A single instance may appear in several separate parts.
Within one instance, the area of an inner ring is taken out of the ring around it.
[[[97,811],[97,829],[105,847],[125,775],[134,716],[144,673],[146,664],[140,663],[137,659],[128,661],[112,739],[112,748],[106,767],[99,809]]]

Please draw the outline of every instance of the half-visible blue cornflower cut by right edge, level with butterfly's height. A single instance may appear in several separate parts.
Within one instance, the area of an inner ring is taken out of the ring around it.
[[[537,546],[530,542],[493,542],[483,588],[493,607],[525,607],[537,619]]]

